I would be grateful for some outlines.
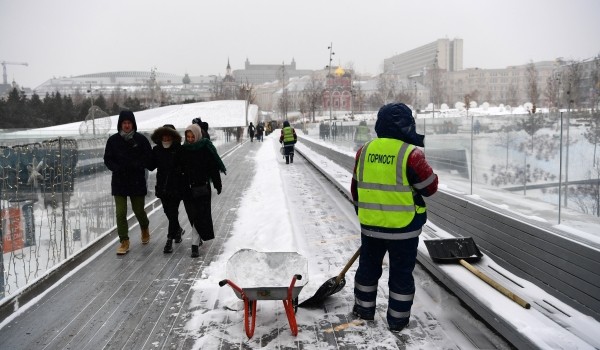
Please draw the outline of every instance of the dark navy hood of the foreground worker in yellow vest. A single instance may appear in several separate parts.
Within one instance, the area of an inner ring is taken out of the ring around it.
[[[404,103],[390,103],[379,109],[375,122],[377,137],[398,139],[425,147],[424,135],[417,134],[412,110]]]

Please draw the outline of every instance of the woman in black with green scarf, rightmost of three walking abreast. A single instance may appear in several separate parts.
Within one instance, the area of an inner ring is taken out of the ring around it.
[[[198,247],[202,241],[215,238],[211,214],[211,190],[213,183],[217,194],[221,194],[222,183],[219,172],[226,169],[215,146],[202,138],[202,130],[196,124],[185,129],[185,143],[178,155],[177,166],[181,169],[184,186],[183,204],[192,225],[192,257],[200,256]]]

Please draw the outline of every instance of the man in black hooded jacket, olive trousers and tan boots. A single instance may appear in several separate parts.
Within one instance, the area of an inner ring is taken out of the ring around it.
[[[147,193],[146,169],[151,161],[152,149],[148,139],[137,132],[133,112],[121,111],[117,131],[106,141],[104,164],[112,171],[111,192],[115,199],[117,232],[121,241],[117,254],[123,255],[129,251],[127,197],[140,224],[142,244],[150,241],[144,200]]]

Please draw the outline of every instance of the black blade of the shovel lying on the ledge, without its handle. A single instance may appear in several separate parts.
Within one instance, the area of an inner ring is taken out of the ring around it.
[[[436,263],[455,263],[460,259],[474,263],[483,256],[472,237],[430,239],[423,242],[431,260]]]

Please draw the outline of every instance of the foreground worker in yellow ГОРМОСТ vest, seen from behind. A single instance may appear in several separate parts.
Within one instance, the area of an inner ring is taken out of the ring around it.
[[[390,331],[400,332],[408,325],[415,293],[412,272],[419,235],[427,221],[423,197],[437,192],[438,177],[418,148],[425,146],[425,137],[417,134],[408,106],[391,103],[381,107],[375,132],[377,138],[356,153],[351,183],[361,228],[352,312],[374,320],[377,283],[388,253],[386,318]]]

